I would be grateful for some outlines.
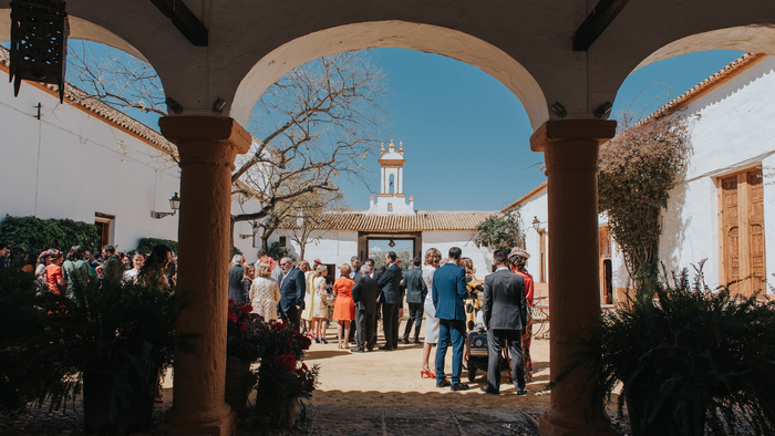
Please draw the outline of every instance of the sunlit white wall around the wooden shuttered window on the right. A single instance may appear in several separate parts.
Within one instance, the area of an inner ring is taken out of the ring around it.
[[[765,250],[767,278],[775,286],[775,59],[768,56],[702,95],[682,111],[692,122],[693,152],[685,181],[670,193],[663,216],[660,258],[669,269],[689,268],[707,259],[707,284],[717,286],[719,177],[755,165],[764,167]]]

